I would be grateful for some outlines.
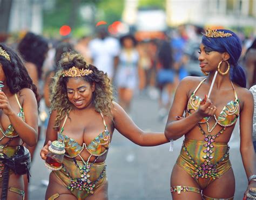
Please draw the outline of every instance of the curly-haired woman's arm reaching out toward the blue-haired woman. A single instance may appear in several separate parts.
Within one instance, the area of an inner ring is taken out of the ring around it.
[[[124,135],[124,137],[140,146],[157,146],[169,142],[163,132],[145,132],[141,130],[134,124],[120,105],[115,102],[113,104],[114,108],[112,113],[114,127],[119,133]]]

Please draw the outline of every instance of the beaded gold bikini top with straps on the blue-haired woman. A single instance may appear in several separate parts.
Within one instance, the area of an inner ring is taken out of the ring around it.
[[[196,96],[195,94],[196,94],[196,91],[198,90],[198,88],[200,87],[200,85],[205,80],[206,80],[206,78],[199,83],[198,87],[192,92],[190,99],[188,99],[187,108],[186,108],[186,116],[191,115],[192,110],[195,111],[198,109],[202,99],[199,96]],[[232,82],[231,82],[231,84],[234,89],[234,85]],[[224,108],[220,112],[220,115],[218,116],[218,118],[214,115],[216,125],[218,124],[220,126],[232,126],[235,122],[237,122],[240,109],[239,109],[239,99],[237,97],[237,93],[235,92],[235,89],[234,89],[234,96],[235,96],[235,100],[228,102],[224,106]],[[199,123],[200,124],[208,123],[209,119],[210,119],[210,117],[205,117],[205,118],[201,119],[201,121]]]

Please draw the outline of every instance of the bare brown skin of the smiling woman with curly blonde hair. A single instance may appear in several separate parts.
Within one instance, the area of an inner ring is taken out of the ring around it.
[[[75,139],[79,145],[82,145],[83,143],[89,145],[90,142],[105,129],[103,119],[100,116],[100,113],[95,111],[92,103],[95,84],[90,85],[90,83],[84,81],[83,78],[80,77],[69,78],[66,87],[68,90],[67,95],[69,101],[73,104],[73,110],[71,110],[69,113],[69,118],[66,121],[63,134]],[[114,128],[116,128],[119,133],[123,134],[126,138],[140,146],[156,146],[169,142],[169,140],[165,138],[164,133],[144,132],[140,130],[140,128],[133,123],[126,112],[117,103],[113,102],[113,108],[111,111],[113,115],[112,117],[104,116],[106,125],[111,133],[111,137]],[[42,148],[40,153],[42,159],[44,160],[46,159],[50,142],[57,139],[57,133],[59,132],[59,130],[53,129],[56,115],[57,112],[53,111],[49,119],[49,124],[46,131],[45,146]],[[63,122],[61,125],[62,124]],[[83,151],[81,154],[84,160],[87,160],[89,155],[90,154],[86,151]],[[100,156],[96,162],[105,161],[106,156],[107,153]],[[79,157],[76,159],[80,160]],[[95,157],[92,156],[90,161],[93,161],[94,159]],[[60,195],[59,199],[76,199],[71,196],[71,192],[63,186],[62,182],[60,182],[58,178],[51,173],[50,183],[48,190],[46,191],[45,199],[48,199],[51,195],[57,192],[62,194]],[[88,199],[108,199],[107,181]]]

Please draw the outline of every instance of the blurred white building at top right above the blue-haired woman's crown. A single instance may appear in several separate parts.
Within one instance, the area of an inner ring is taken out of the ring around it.
[[[256,29],[256,0],[166,0],[167,24],[251,26]]]

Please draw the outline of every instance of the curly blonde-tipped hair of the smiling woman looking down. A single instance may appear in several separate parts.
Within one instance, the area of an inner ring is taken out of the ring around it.
[[[63,70],[68,70],[73,66],[79,69],[91,69],[92,74],[82,76],[83,79],[91,85],[95,83],[95,91],[93,92],[93,105],[96,112],[102,112],[105,116],[112,116],[113,108],[113,90],[110,79],[107,74],[99,70],[93,65],[87,65],[83,56],[75,52],[67,52],[62,55],[62,59],[58,63],[58,70],[52,83],[51,106],[50,109],[57,111],[54,128],[58,129],[60,122],[69,111],[73,109],[73,104],[69,101],[66,83],[69,78],[64,77]]]

